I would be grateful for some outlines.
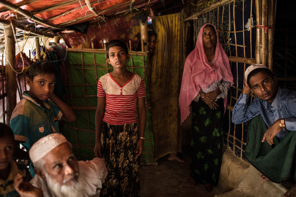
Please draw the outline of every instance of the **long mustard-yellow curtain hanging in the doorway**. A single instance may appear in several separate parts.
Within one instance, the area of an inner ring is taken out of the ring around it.
[[[181,152],[178,97],[185,62],[181,13],[153,17],[157,44],[153,54],[150,92],[156,159]]]

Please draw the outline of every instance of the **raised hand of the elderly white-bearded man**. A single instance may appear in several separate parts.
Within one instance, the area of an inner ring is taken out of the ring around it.
[[[24,182],[22,175],[18,174],[14,179],[15,190],[22,197],[43,197],[43,191],[39,188],[34,187],[29,182]]]

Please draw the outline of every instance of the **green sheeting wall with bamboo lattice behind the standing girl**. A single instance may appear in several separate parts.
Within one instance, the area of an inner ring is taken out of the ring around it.
[[[95,113],[97,105],[97,81],[94,65],[96,65],[97,79],[107,72],[111,72],[113,67],[106,68],[105,54],[95,53],[95,64],[93,53],[68,53],[68,85],[66,88],[66,102],[69,106],[89,106],[88,110],[74,110],[76,121],[67,123],[63,127],[63,134],[73,145],[73,152],[79,160],[90,160],[94,158],[95,145]],[[83,61],[81,60],[81,57]],[[139,74],[144,79],[143,56],[132,56],[133,67],[128,62],[129,70]],[[83,69],[82,69],[83,62]],[[147,56],[144,56],[145,71],[147,68]],[[146,72],[145,72],[146,73]],[[84,83],[83,83],[84,79]],[[83,85],[84,84],[84,85]],[[146,87],[146,92],[148,88]],[[147,100],[150,95],[147,93]],[[150,136],[149,136],[150,133]],[[145,129],[144,151],[141,156],[142,163],[156,162],[154,158],[154,139],[152,133],[151,113],[147,109],[147,123]]]

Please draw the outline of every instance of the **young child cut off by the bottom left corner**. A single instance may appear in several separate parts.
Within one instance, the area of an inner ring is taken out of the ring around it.
[[[14,152],[14,134],[6,124],[0,123],[0,197],[19,196],[13,180],[20,173],[26,181],[31,179],[30,172],[24,164],[17,164],[12,155]]]

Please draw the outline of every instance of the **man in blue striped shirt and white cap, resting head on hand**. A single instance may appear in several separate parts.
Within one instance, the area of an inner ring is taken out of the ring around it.
[[[266,167],[265,163],[274,163],[272,159],[280,160],[272,155],[275,150],[278,151],[276,154],[286,155],[286,153],[283,152],[287,152],[287,149],[279,150],[278,144],[283,144],[285,141],[289,141],[285,137],[287,136],[288,138],[289,136],[290,138],[294,135],[294,131],[296,130],[296,92],[279,87],[277,85],[276,76],[274,76],[263,64],[253,64],[249,66],[245,71],[244,81],[245,87],[242,94],[239,96],[237,103],[234,105],[231,121],[234,124],[241,124],[257,116],[263,118],[264,122],[262,121],[262,123],[265,129],[260,129],[260,123],[258,122],[256,124],[250,123],[249,125],[245,156],[254,167],[263,173],[263,175],[261,175],[263,181],[266,181],[269,178],[273,182],[281,182],[282,180],[286,180],[286,175],[283,175],[283,172],[279,172],[278,175],[269,175],[272,170]],[[252,103],[247,104],[251,92],[253,92],[256,97],[253,99]],[[255,129],[251,128],[253,125],[255,125]],[[250,133],[250,131],[254,131],[254,133]],[[293,132],[289,135],[291,131]],[[266,144],[266,142],[269,145]],[[269,147],[260,150],[266,145]],[[284,145],[284,147],[287,146],[287,144]],[[277,149],[273,150],[274,147],[277,147]],[[264,152],[264,155],[261,154],[262,152]],[[263,156],[268,154],[269,156],[272,155],[269,157],[269,159],[271,159],[269,162],[266,160],[267,157],[265,160],[262,159]],[[252,157],[254,159],[253,162],[251,161]],[[284,156],[282,160],[285,162]],[[291,164],[295,165],[294,162]],[[281,165],[284,164],[279,164],[278,166],[275,165],[272,168],[278,168],[278,171],[281,171],[283,169],[283,166]],[[295,169],[291,169],[291,167],[292,165],[288,167],[290,169],[288,170],[289,174],[294,175]],[[284,169],[286,168],[287,166],[284,166]],[[264,173],[265,170],[268,172]],[[293,187],[292,189],[295,190],[293,193],[296,193],[296,188]]]

